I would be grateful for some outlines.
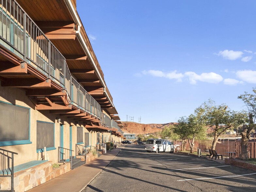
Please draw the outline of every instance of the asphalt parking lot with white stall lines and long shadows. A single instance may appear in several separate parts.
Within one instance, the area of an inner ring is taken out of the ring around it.
[[[256,191],[256,171],[126,145],[83,191]]]

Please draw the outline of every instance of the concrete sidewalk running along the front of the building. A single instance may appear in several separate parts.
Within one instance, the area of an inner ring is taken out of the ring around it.
[[[110,163],[110,161],[116,157],[123,148],[124,147],[121,146],[117,149],[113,149],[111,152],[101,155],[98,159],[73,169],[46,183],[40,184],[39,186],[28,190],[28,192],[80,192]]]

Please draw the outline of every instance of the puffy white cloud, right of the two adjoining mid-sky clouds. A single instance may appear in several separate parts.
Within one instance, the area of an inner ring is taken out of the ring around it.
[[[207,83],[219,83],[223,80],[223,77],[214,72],[202,73],[200,75],[195,72],[185,72],[184,75],[188,76],[190,84],[196,84],[197,81],[207,82]]]

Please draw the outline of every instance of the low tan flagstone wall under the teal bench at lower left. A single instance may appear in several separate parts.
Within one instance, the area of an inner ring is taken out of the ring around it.
[[[51,161],[14,173],[14,190],[27,191],[70,171],[70,163],[53,168]],[[0,190],[11,189],[11,178],[0,177]]]

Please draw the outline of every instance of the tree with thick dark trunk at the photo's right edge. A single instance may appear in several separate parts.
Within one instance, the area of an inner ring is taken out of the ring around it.
[[[242,99],[245,106],[247,107],[247,112],[240,114],[240,120],[243,120],[240,128],[241,139],[241,156],[240,158],[245,160],[248,159],[248,140],[250,139],[251,132],[255,128],[256,119],[256,88],[252,89],[252,94],[245,92],[244,94],[238,96],[238,99]]]

